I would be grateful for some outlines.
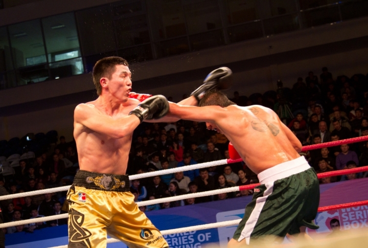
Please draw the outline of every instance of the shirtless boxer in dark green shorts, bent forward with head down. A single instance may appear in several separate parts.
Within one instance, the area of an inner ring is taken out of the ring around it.
[[[285,237],[313,223],[319,204],[316,173],[298,152],[301,142],[271,109],[239,107],[219,91],[206,92],[199,106],[170,103],[170,116],[206,122],[208,129],[225,134],[247,166],[258,174],[260,186],[228,243],[243,246],[265,235]]]

